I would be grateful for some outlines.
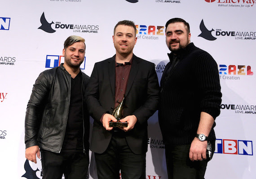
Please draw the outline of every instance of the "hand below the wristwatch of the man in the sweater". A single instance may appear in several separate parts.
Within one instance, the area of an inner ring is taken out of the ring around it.
[[[199,141],[198,138],[194,138],[190,146],[190,160],[193,161],[202,161],[206,159],[206,149],[207,141]]]

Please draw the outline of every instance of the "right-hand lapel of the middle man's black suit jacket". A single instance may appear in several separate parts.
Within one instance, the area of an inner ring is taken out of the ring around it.
[[[129,74],[129,79],[127,82],[127,87],[126,87],[126,91],[125,91],[125,96],[127,96],[127,94],[129,93],[129,90],[132,87],[132,83],[137,75],[138,69],[139,69],[139,59],[137,58],[137,56],[135,56],[133,54],[132,56],[132,68]]]

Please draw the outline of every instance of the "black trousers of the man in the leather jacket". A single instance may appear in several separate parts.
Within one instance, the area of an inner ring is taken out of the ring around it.
[[[41,150],[43,179],[86,179],[89,155],[80,153],[53,153]]]

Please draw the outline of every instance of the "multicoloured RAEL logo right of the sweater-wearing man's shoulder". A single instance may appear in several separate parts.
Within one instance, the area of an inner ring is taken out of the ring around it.
[[[246,65],[219,65],[220,79],[223,80],[240,80],[241,76],[252,76],[251,66]]]

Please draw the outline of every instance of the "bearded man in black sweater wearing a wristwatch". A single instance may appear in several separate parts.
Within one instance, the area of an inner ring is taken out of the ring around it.
[[[166,44],[172,53],[160,83],[159,124],[169,179],[204,179],[207,143],[212,145],[210,154],[215,150],[213,128],[222,96],[218,68],[190,37],[185,20],[166,23]]]

